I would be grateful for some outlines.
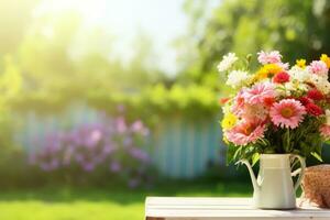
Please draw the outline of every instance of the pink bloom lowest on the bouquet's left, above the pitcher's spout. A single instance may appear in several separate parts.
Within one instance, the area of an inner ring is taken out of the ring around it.
[[[258,120],[242,121],[233,129],[227,131],[224,135],[228,141],[235,145],[246,145],[262,139],[266,130],[265,128],[265,123]]]

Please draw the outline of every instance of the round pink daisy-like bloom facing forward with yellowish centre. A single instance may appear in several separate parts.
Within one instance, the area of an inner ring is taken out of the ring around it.
[[[270,111],[271,120],[276,127],[295,129],[306,114],[305,107],[295,99],[283,99],[273,105]]]

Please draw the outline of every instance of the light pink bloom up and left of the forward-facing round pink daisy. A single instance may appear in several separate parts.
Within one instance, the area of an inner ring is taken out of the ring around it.
[[[274,86],[270,82],[261,82],[254,85],[251,89],[243,91],[242,97],[250,105],[264,103],[266,99],[276,96]]]

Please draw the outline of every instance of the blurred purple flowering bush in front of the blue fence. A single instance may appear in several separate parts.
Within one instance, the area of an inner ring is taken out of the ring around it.
[[[141,120],[129,123],[124,117],[78,124],[69,131],[53,132],[37,139],[38,151],[29,162],[42,170],[107,170],[135,188],[145,179],[151,157],[142,144],[148,129]],[[141,167],[143,166],[143,169]],[[70,174],[70,173],[68,173]]]

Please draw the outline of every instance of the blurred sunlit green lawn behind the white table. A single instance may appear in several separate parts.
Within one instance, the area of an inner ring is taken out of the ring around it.
[[[141,220],[146,196],[249,196],[242,184],[168,184],[151,190],[40,188],[0,191],[2,220]]]

